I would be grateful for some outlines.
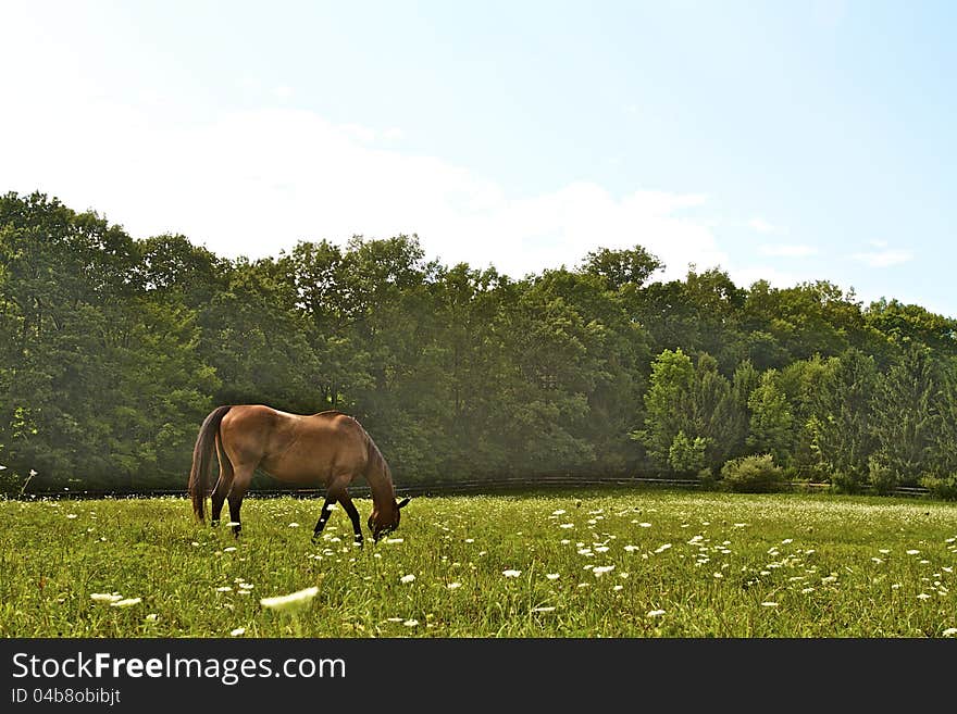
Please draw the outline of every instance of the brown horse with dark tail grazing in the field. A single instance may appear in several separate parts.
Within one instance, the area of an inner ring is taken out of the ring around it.
[[[239,508],[252,473],[261,468],[281,481],[299,486],[325,485],[325,503],[312,534],[316,540],[338,501],[352,522],[356,542],[362,544],[359,511],[348,487],[363,476],[372,491],[369,529],[373,540],[399,527],[399,510],[409,502],[396,502],[391,472],[372,437],[351,416],[320,412],[311,416],[288,414],[262,404],[217,406],[202,423],[192,450],[189,493],[192,511],[203,521],[210,492],[212,452],[220,462],[220,478],[212,489],[213,525],[220,521],[223,501],[229,500],[233,535],[239,536]]]

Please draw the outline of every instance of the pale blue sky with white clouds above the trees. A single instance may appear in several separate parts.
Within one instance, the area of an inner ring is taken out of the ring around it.
[[[957,3],[0,0],[0,191],[220,255],[644,246],[957,317]]]

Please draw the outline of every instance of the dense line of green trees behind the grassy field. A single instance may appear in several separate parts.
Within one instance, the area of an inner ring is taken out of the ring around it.
[[[415,236],[227,260],[0,197],[8,489],[182,488],[217,404],[355,415],[397,483],[567,474],[954,485],[957,321],[596,248],[522,278]],[[258,477],[260,484],[268,477]]]

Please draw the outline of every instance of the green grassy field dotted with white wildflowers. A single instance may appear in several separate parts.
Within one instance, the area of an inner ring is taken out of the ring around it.
[[[363,522],[370,502],[357,499]],[[417,498],[351,544],[320,502],[244,534],[185,499],[0,501],[3,637],[942,637],[957,504],[601,489]],[[318,586],[298,614],[261,598]],[[110,604],[94,593],[122,596]],[[140,599],[140,600],[136,600]],[[952,631],[948,631],[952,630]]]

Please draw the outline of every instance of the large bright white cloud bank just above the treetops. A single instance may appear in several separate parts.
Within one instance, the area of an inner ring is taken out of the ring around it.
[[[681,214],[707,208],[705,196],[617,198],[583,181],[518,198],[460,166],[377,146],[388,134],[293,109],[194,123],[104,101],[69,121],[10,112],[0,136],[18,141],[4,147],[0,186],[97,210],[135,237],[182,233],[228,256],[415,233],[428,258],[513,277],[636,243],[664,261],[663,277],[692,262],[728,264],[713,224]]]

